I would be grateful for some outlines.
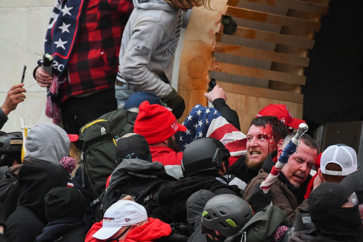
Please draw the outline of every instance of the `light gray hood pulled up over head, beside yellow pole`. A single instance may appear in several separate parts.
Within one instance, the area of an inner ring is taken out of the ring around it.
[[[63,157],[69,156],[69,146],[69,137],[61,127],[53,123],[37,123],[26,136],[24,159],[59,165]]]

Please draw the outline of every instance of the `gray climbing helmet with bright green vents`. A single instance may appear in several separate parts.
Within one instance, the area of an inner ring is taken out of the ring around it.
[[[252,209],[240,197],[221,194],[212,197],[204,206],[202,233],[209,233],[218,239],[235,235],[252,218]],[[223,236],[216,235],[214,230]]]

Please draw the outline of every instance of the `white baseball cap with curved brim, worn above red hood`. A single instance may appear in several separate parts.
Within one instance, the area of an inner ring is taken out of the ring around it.
[[[102,228],[92,235],[96,239],[108,239],[123,226],[133,225],[147,220],[143,206],[130,200],[119,200],[103,216]]]

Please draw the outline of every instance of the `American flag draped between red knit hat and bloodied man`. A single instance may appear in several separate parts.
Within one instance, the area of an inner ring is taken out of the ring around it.
[[[181,132],[180,151],[195,139],[210,137],[220,140],[231,153],[231,166],[240,156],[246,154],[246,135],[237,130],[222,117],[216,108],[209,108],[197,104],[185,118],[183,125],[187,131]]]

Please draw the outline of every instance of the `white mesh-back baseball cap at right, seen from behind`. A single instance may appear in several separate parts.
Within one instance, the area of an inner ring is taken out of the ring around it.
[[[329,171],[325,169],[329,163],[338,164],[342,171]],[[320,170],[326,175],[347,176],[358,168],[357,153],[345,144],[330,145],[325,149],[320,159]]]

